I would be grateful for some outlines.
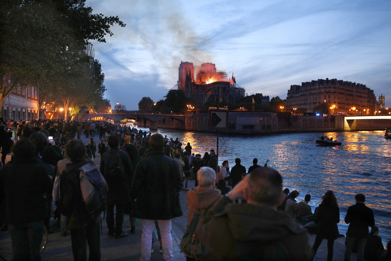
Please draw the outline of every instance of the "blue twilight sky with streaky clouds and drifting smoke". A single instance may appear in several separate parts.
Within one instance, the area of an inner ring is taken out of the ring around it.
[[[181,61],[215,63],[248,95],[286,99],[317,79],[365,84],[391,107],[391,1],[87,0],[119,16],[106,43],[93,41],[105,97],[137,110],[177,88]]]

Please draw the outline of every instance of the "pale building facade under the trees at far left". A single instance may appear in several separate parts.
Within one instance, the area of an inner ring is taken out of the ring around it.
[[[38,89],[27,87],[20,91],[19,87],[12,92],[2,105],[1,116],[16,121],[38,119]]]

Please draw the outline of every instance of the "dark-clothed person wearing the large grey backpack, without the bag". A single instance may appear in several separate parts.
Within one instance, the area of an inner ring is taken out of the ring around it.
[[[100,209],[89,213],[83,200],[80,168],[94,163],[86,155],[86,147],[81,140],[70,140],[65,146],[71,163],[61,174],[60,206],[61,214],[67,217],[66,229],[71,233],[72,253],[75,260],[100,260]]]

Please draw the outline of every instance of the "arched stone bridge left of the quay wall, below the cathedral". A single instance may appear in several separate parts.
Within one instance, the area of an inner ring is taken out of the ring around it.
[[[116,124],[120,123],[120,121],[123,121],[124,119],[132,119],[136,120],[138,122],[138,125],[143,125],[144,127],[147,126],[147,123],[149,123],[149,128],[151,130],[157,130],[158,129],[158,121],[164,120],[164,119],[172,119],[177,120],[185,125],[185,115],[171,115],[171,114],[155,114],[155,113],[90,113],[85,115],[85,119],[91,119],[91,120],[113,120]]]

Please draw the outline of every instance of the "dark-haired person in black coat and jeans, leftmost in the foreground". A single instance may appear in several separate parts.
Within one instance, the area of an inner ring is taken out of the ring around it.
[[[14,260],[41,260],[39,254],[46,200],[52,182],[43,166],[34,160],[35,146],[18,140],[14,159],[0,172],[0,202],[12,240]]]

